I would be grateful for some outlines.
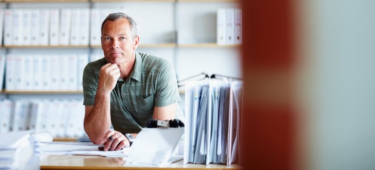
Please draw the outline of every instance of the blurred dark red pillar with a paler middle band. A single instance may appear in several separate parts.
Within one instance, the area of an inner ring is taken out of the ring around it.
[[[242,0],[245,170],[295,167],[292,0]]]

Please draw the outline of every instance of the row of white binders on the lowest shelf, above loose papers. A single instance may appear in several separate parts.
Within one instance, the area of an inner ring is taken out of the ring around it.
[[[0,100],[0,133],[48,131],[54,137],[84,135],[82,100]]]

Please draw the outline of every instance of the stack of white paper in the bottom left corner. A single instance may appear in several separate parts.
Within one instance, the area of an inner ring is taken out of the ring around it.
[[[30,131],[0,134],[0,169],[23,169],[33,156]]]

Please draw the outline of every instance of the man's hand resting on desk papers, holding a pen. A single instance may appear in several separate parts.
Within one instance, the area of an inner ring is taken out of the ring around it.
[[[130,146],[129,141],[127,138],[118,131],[108,131],[105,135],[103,140],[104,151],[118,151],[125,146]],[[110,149],[109,149],[110,148]]]

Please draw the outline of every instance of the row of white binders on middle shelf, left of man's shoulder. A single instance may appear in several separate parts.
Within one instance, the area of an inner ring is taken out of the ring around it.
[[[0,74],[6,66],[7,91],[82,91],[88,58],[87,53],[0,55]]]

